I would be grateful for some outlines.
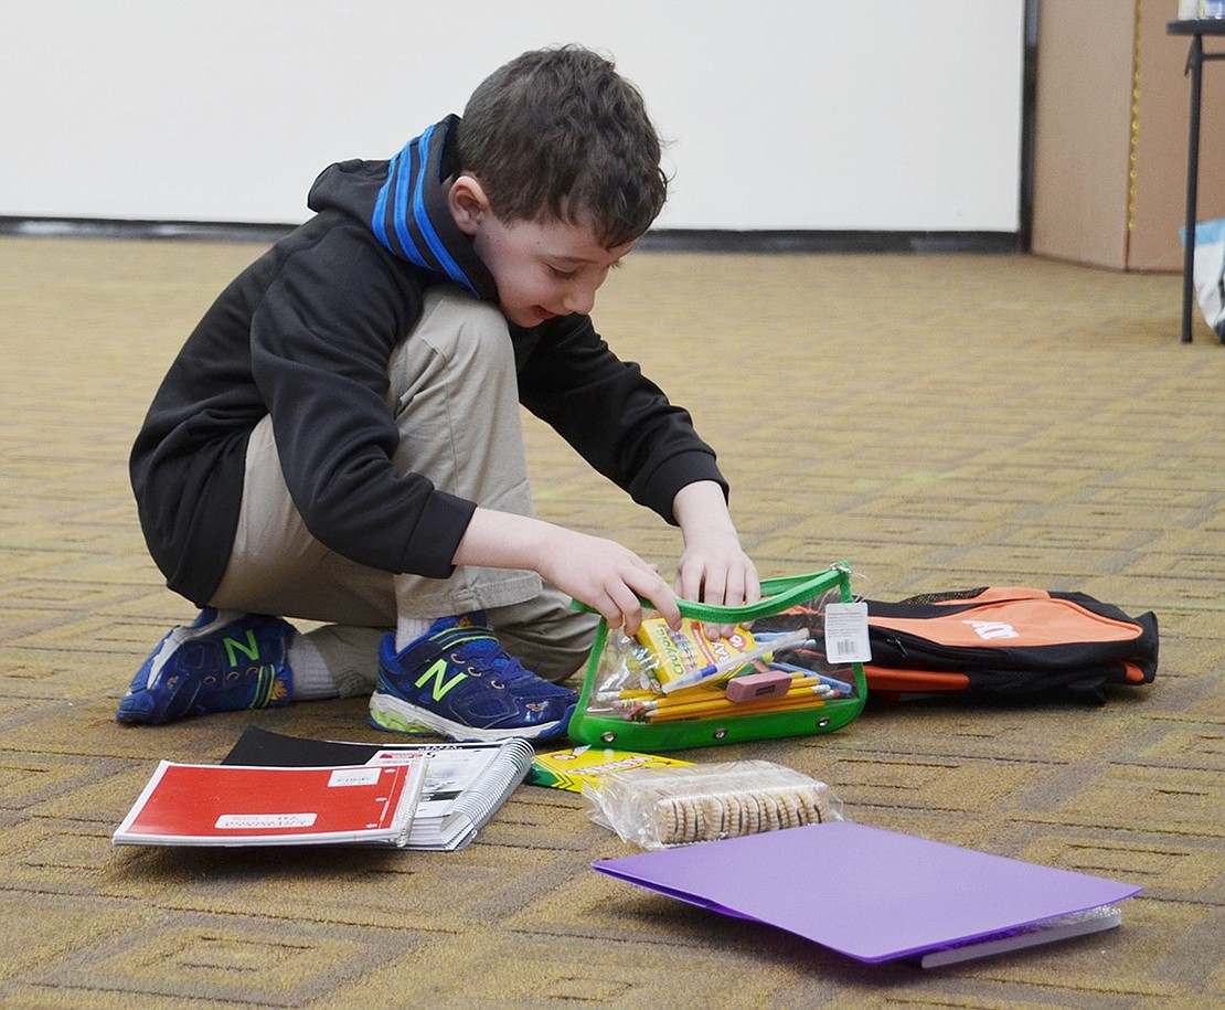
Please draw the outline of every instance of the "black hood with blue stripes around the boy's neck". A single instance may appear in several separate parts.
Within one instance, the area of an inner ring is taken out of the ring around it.
[[[494,276],[447,207],[447,181],[459,170],[458,125],[459,116],[448,115],[391,161],[330,165],[311,186],[306,206],[365,222],[392,255],[496,302]]]

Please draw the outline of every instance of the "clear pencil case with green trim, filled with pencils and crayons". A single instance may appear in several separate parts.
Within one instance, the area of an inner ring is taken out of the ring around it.
[[[660,683],[659,648],[669,650],[680,642],[684,650],[693,645],[691,639],[665,630],[663,645],[650,651],[643,641],[650,637],[646,623],[638,636],[628,639],[601,619],[570,721],[570,738],[592,746],[652,753],[842,729],[859,716],[867,700],[862,663],[839,661],[839,656],[848,655],[848,644],[842,639],[844,617],[839,614],[832,621],[837,631],[827,628],[826,620],[831,604],[854,603],[850,568],[840,563],[827,571],[767,579],[762,581],[762,596],[760,603],[747,607],[679,601],[681,615],[690,621],[733,625],[737,634],[744,629],[747,641],[734,635],[737,648],[744,648],[739,656],[733,651],[730,658],[719,662],[717,656],[706,656],[709,666],[699,673],[710,679],[701,685],[685,683],[686,690],[670,695],[664,694]],[[827,631],[839,637],[833,640]],[[771,648],[772,642],[783,647]],[[702,647],[709,645],[707,641]],[[715,642],[714,648],[719,647]],[[746,662],[739,664],[741,657]],[[728,672],[720,677],[723,667]],[[783,670],[793,678],[785,688]],[[762,674],[757,682],[773,680],[774,693],[757,699],[748,690],[736,690],[757,683],[750,680],[730,686],[752,674]],[[730,701],[733,696],[736,702]]]

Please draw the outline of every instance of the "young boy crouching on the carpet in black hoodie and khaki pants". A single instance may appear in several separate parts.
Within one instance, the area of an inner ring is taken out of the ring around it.
[[[598,620],[571,597],[627,634],[639,596],[674,624],[674,591],[760,597],[714,452],[589,317],[663,207],[659,159],[637,89],[565,47],[495,71],[390,162],[318,177],[315,217],[222,292],[134,446],[149,552],[203,610],[120,722],[374,683],[385,729],[548,739]],[[674,586],[533,517],[521,403],[680,526]]]

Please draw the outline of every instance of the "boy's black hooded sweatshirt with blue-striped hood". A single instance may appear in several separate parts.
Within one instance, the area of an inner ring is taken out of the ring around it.
[[[475,503],[398,474],[387,407],[392,349],[425,290],[457,283],[496,303],[489,270],[446,203],[457,116],[391,161],[325,169],[315,217],[240,273],[192,331],[132,447],[141,527],[167,585],[205,606],[225,571],[246,444],[272,414],[281,467],[306,528],[388,572],[445,579]],[[597,471],[669,522],[695,480],[726,483],[690,416],[589,316],[511,325],[519,401]]]

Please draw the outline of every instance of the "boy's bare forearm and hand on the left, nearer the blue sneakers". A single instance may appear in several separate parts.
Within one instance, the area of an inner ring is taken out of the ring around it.
[[[673,628],[681,612],[676,594],[659,570],[632,550],[604,537],[592,537],[551,522],[480,509],[456,549],[454,564],[517,568],[544,579],[586,603],[626,635],[642,624],[643,603]]]

